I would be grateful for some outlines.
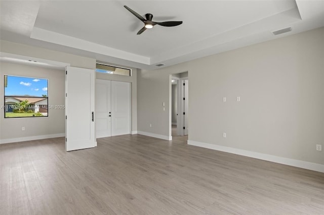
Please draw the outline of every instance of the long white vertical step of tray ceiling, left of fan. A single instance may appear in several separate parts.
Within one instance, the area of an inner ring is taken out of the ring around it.
[[[53,31],[48,31],[42,28],[34,27],[32,29],[30,38],[150,65],[150,58],[148,57],[136,55],[134,53],[118,50],[97,43],[89,42],[83,39],[56,33]]]

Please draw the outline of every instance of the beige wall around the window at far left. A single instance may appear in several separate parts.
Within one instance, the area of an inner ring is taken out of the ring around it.
[[[49,105],[65,105],[65,71],[1,62],[0,64],[0,105],[4,105],[4,75],[49,79]],[[49,117],[4,119],[4,110],[0,111],[1,140],[50,136],[65,133],[65,110],[50,109]],[[22,131],[25,127],[25,131]]]

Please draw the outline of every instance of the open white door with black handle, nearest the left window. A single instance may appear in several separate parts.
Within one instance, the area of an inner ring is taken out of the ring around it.
[[[65,150],[95,147],[95,71],[66,67]]]

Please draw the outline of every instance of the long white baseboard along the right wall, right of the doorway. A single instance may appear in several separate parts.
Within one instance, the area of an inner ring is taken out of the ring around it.
[[[218,151],[225,151],[225,152],[229,152],[229,153],[233,153],[233,154],[244,155],[244,156],[248,156],[248,157],[267,160],[269,162],[285,164],[285,165],[289,165],[289,166],[293,166],[293,167],[299,167],[299,168],[303,168],[303,169],[307,169],[307,170],[313,170],[313,171],[324,173],[324,165],[305,162],[303,160],[279,157],[279,156],[270,155],[270,154],[263,154],[263,153],[259,153],[259,152],[247,151],[247,150],[243,150],[243,149],[231,148],[231,147],[215,145],[215,144],[211,144],[211,143],[197,142],[197,141],[193,141],[193,140],[188,140],[188,145],[194,145],[194,146],[214,149],[214,150],[218,150]]]

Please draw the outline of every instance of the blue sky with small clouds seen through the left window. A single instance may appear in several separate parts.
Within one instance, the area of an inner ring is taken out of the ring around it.
[[[5,95],[42,96],[42,94],[48,96],[47,79],[8,76]]]

